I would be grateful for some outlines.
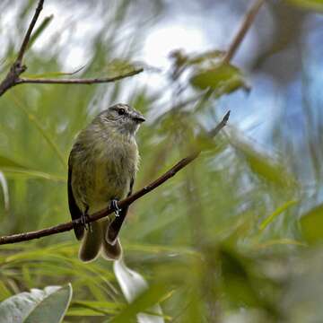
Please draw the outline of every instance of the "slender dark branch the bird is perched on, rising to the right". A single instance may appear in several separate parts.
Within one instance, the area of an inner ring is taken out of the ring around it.
[[[223,129],[223,127],[225,127],[225,125],[227,124],[229,116],[230,116],[230,111],[226,113],[226,115],[223,117],[223,120],[214,128],[214,130],[210,131],[209,134],[213,136],[217,135],[220,132],[220,130]],[[193,162],[200,153],[201,151],[196,151],[188,155],[188,157],[183,158],[176,165],[174,165],[170,170],[166,171],[160,178],[154,180],[153,183],[149,184],[148,186],[142,189],[139,189],[133,195],[128,196],[127,198],[119,201],[118,207],[123,208],[123,207],[126,207],[127,205],[131,205],[137,199],[153,191],[153,189],[158,188],[166,180],[175,176],[179,172],[179,170],[182,170],[184,167],[188,166],[190,162]],[[91,217],[88,217],[86,219],[86,223],[92,223],[103,217],[108,216],[111,213],[113,213],[113,209],[111,209],[110,207],[108,209],[101,210],[95,214],[92,214]],[[73,222],[58,224],[56,226],[53,226],[47,229],[0,237],[0,245],[4,245],[8,243],[16,243],[16,242],[21,242],[26,240],[39,239],[42,237],[46,237],[48,235],[70,231],[74,228],[74,226],[82,225],[81,221],[82,221],[81,219],[78,219],[78,220],[74,220]]]

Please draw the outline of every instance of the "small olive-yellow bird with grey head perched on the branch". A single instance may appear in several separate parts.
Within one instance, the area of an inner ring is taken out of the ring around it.
[[[82,219],[74,233],[82,240],[79,258],[83,261],[99,254],[118,259],[122,254],[118,232],[127,207],[120,210],[117,202],[132,193],[139,162],[135,133],[142,122],[141,113],[119,103],[100,112],[75,140],[68,160],[68,205],[72,219]],[[109,206],[115,217],[86,228],[87,216]]]

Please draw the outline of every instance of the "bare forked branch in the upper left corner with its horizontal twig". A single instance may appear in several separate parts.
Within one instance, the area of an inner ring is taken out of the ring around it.
[[[39,18],[39,14],[43,8],[44,0],[39,0],[36,11],[32,17],[31,24],[28,27],[25,37],[22,40],[22,46],[19,50],[18,56],[11,65],[8,74],[5,75],[4,80],[0,83],[0,96],[4,92],[8,91],[15,85],[24,83],[39,83],[39,84],[95,84],[95,83],[111,83],[118,80],[124,79],[135,74],[139,74],[144,71],[143,68],[135,69],[126,74],[120,74],[113,77],[102,77],[102,78],[87,78],[87,79],[51,79],[51,78],[22,78],[20,75],[26,71],[27,66],[22,64],[23,56],[28,49],[28,44],[31,40],[31,32],[35,27],[35,24]]]

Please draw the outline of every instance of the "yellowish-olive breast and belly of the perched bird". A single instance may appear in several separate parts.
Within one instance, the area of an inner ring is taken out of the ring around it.
[[[135,178],[136,145],[112,144],[93,145],[91,153],[84,153],[78,167],[74,167],[75,200],[81,210],[89,206],[89,214],[109,206],[114,198],[126,197]]]

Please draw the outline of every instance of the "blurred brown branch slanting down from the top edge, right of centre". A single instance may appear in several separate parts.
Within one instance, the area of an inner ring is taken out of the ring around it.
[[[231,61],[232,57],[239,48],[240,43],[246,36],[247,31],[249,31],[251,24],[254,22],[259,9],[263,4],[265,4],[265,1],[266,0],[256,0],[255,4],[253,4],[249,9],[249,12],[246,14],[243,22],[241,23],[239,31],[231,42],[230,48],[223,57],[223,63],[229,63]]]

